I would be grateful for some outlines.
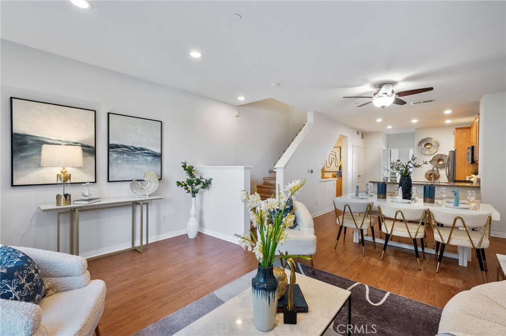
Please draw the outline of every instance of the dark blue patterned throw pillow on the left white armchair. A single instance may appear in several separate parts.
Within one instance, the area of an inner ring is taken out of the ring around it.
[[[37,264],[23,252],[0,246],[0,298],[37,304],[46,294]]]

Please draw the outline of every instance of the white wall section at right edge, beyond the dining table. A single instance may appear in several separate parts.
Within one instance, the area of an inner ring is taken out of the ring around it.
[[[483,203],[500,214],[492,231],[506,237],[506,92],[485,94],[480,100],[479,175]]]

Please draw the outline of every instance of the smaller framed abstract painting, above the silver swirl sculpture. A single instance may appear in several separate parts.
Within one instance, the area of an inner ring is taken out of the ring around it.
[[[161,180],[161,121],[108,113],[109,182],[142,180],[153,171]]]

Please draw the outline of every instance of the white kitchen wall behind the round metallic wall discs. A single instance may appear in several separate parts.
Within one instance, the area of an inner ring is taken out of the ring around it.
[[[451,126],[427,127],[415,129],[413,154],[416,157],[416,162],[420,164],[424,161],[429,162],[436,154],[448,155],[448,152],[453,151],[453,149],[455,148],[455,137],[453,135],[454,129],[456,127],[465,127],[465,126],[469,125],[451,125]],[[439,149],[436,153],[431,155],[424,155],[418,152],[418,142],[426,137],[433,137],[439,141]],[[427,179],[425,178],[425,172],[430,169],[432,169],[432,165],[430,163],[424,165],[421,168],[415,169],[412,176],[413,181],[427,181]],[[440,174],[439,180],[441,182],[448,182],[448,178],[446,177],[446,172],[444,169],[440,169],[439,174]]]

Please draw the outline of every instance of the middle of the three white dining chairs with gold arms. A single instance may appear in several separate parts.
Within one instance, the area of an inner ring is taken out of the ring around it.
[[[425,226],[423,224],[427,220],[427,208],[420,206],[400,208],[389,204],[383,204],[378,205],[378,212],[382,222],[382,231],[385,232],[385,244],[383,245],[381,260],[383,260],[385,256],[385,251],[387,250],[388,241],[391,236],[406,237],[413,241],[418,270],[421,270],[416,239],[420,239],[421,253],[425,259]]]

